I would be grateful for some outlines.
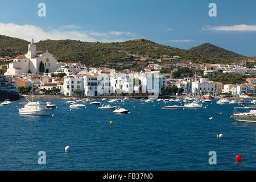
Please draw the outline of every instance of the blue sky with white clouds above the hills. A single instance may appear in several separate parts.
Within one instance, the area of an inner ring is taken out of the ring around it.
[[[38,16],[39,3],[46,4],[45,17]],[[216,3],[216,17],[208,15],[209,3]],[[35,42],[145,38],[183,49],[208,42],[256,56],[255,0],[9,0],[0,7],[0,34]]]

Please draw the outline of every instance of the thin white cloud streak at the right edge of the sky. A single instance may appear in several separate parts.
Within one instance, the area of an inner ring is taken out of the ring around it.
[[[256,31],[256,25],[236,24],[233,26],[207,26],[202,29],[213,31]]]

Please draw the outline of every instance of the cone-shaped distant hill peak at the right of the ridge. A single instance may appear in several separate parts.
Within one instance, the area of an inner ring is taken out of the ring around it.
[[[214,56],[214,57],[219,57],[224,59],[245,57],[238,53],[228,51],[224,48],[214,46],[213,44],[210,44],[210,43],[204,43],[204,44],[201,44],[200,46],[193,47],[189,49],[189,51],[202,52],[202,53],[206,53],[209,56]]]

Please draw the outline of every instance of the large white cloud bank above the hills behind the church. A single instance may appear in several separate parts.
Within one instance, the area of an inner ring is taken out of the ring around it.
[[[0,35],[20,38],[27,41],[34,38],[35,42],[47,39],[73,39],[86,42],[123,42],[135,36],[135,33],[126,31],[94,32],[78,30],[79,28],[80,27],[76,27],[75,25],[67,25],[57,29],[47,28],[47,30],[44,30],[32,24],[19,25],[14,23],[0,23]]]

